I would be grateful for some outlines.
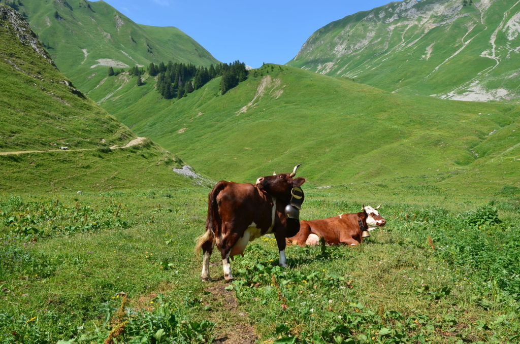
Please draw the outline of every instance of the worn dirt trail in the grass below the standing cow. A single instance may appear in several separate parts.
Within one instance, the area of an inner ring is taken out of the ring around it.
[[[214,343],[219,344],[254,344],[258,337],[255,329],[248,322],[248,314],[238,309],[235,293],[226,290],[226,284],[222,281],[206,289],[204,304],[212,308],[211,321],[215,325]]]

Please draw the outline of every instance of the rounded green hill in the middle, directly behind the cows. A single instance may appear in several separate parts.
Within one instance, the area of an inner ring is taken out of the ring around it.
[[[147,86],[120,118],[214,179],[253,181],[302,163],[302,175],[315,186],[417,185],[475,171],[464,180],[472,183],[484,180],[496,166],[493,157],[504,154],[508,173],[486,188],[518,184],[515,105],[392,94],[277,65],[253,71],[224,96],[218,83],[175,102],[157,101]]]

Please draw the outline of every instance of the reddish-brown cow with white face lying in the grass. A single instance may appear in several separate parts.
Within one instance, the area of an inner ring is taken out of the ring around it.
[[[383,227],[386,220],[379,215],[378,209],[363,206],[360,213],[341,214],[322,220],[300,221],[300,231],[287,238],[288,244],[317,245],[321,238],[329,245],[358,245],[363,241],[363,231],[371,231]]]

